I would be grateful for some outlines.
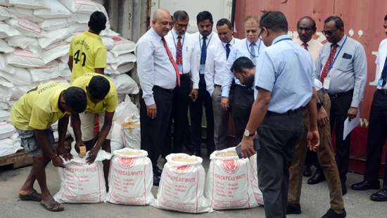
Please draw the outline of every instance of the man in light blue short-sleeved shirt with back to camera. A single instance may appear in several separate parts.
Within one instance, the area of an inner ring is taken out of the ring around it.
[[[256,98],[239,146],[243,158],[257,153],[258,182],[266,217],[283,218],[288,198],[288,167],[294,147],[303,136],[305,107],[310,116],[308,146],[316,149],[319,144],[313,87],[315,66],[309,53],[288,36],[284,13],[265,12],[259,27],[267,48],[257,60]]]

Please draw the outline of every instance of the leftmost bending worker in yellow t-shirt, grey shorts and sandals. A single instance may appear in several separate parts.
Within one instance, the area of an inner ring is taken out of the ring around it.
[[[13,105],[11,123],[15,126],[24,149],[33,158],[33,165],[27,180],[19,191],[20,200],[40,201],[50,211],[61,211],[47,188],[46,165],[51,161],[55,167],[64,167],[58,155],[69,159],[64,148],[70,114],[82,113],[87,105],[86,94],[79,87],[67,83],[47,82],[27,92]],[[51,124],[58,121],[58,150],[54,152]],[[42,195],[34,190],[37,180]]]

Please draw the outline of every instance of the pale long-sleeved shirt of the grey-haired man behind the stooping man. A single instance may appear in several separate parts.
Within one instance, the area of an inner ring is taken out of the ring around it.
[[[266,48],[265,44],[263,44],[263,41],[258,39],[257,42],[255,42],[255,54],[250,53],[250,41],[248,41],[246,38],[241,39],[234,44],[233,49],[231,49],[231,52],[229,54],[229,59],[227,59],[227,63],[225,66],[225,74],[222,84],[222,97],[229,97],[229,92],[232,84],[232,80],[235,80],[236,84],[241,84],[239,82],[239,79],[236,79],[234,76],[234,73],[231,72],[231,66],[234,63],[234,61],[239,57],[248,57],[255,56],[255,60],[253,60],[254,65],[257,63],[258,57],[260,56],[260,53]]]

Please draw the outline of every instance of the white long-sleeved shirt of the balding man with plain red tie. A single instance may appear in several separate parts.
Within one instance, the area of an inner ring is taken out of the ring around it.
[[[175,68],[165,51],[162,38],[153,28],[137,41],[137,74],[146,105],[153,105],[153,86],[174,89],[177,84]]]

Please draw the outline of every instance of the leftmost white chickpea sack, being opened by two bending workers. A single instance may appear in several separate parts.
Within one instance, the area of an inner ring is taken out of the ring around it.
[[[80,158],[72,143],[70,153],[73,158],[65,161],[65,168],[58,167],[61,189],[53,198],[60,203],[102,203],[106,199],[106,184],[103,177],[103,160],[110,160],[111,154],[99,150],[96,160],[88,164]]]

